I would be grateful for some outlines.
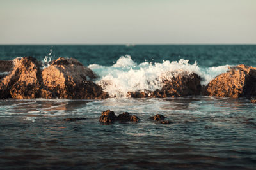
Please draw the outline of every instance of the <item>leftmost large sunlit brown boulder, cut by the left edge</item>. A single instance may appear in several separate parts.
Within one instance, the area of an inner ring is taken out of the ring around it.
[[[10,74],[0,80],[1,99],[31,99],[40,97],[39,62],[33,57],[19,57],[13,60]]]

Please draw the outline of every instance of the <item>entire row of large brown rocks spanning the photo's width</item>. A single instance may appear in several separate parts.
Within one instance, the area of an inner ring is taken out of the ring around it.
[[[60,57],[42,69],[33,57],[0,61],[0,99],[105,99],[102,87],[93,83],[91,69],[76,59]],[[195,73],[175,71],[161,77],[163,87],[155,91],[128,92],[128,97],[186,97],[203,94],[217,97],[255,97],[256,68],[244,64],[216,76],[206,87]]]

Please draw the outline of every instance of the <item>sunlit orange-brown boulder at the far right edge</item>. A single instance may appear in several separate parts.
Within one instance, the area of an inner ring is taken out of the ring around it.
[[[205,95],[232,98],[256,96],[256,68],[244,64],[230,67],[205,87]]]

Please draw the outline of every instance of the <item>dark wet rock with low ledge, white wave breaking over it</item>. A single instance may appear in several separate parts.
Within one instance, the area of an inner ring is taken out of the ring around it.
[[[163,87],[161,90],[155,91],[145,90],[145,92],[128,92],[127,96],[132,98],[145,97],[184,97],[191,95],[199,95],[201,93],[200,77],[191,73],[181,72],[173,75],[171,79],[163,78]]]

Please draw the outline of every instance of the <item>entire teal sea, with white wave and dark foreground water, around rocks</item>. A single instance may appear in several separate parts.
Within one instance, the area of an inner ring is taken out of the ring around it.
[[[0,60],[25,56],[42,67],[75,58],[111,97],[0,100],[0,169],[256,169],[252,98],[127,97],[160,89],[161,78],[176,70],[207,85],[237,64],[256,67],[256,45],[0,45]],[[140,121],[102,124],[108,109]],[[156,114],[172,123],[148,119]]]

